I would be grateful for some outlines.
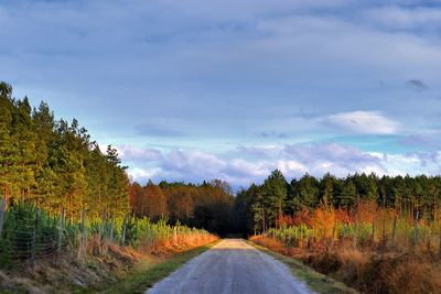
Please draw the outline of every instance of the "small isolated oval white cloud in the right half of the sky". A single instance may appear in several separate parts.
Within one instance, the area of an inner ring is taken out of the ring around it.
[[[351,111],[327,116],[323,119],[344,131],[365,134],[394,134],[399,130],[399,123],[377,111]]]

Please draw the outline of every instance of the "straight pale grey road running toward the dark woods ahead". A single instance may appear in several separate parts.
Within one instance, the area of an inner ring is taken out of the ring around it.
[[[283,263],[240,239],[226,239],[157,283],[148,294],[313,293]]]

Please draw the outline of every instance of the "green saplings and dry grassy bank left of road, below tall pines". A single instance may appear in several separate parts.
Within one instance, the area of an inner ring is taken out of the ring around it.
[[[93,220],[63,225],[60,218],[39,213],[32,205],[10,207],[0,239],[0,290],[95,292],[132,277],[142,266],[150,269],[146,281],[157,281],[166,274],[163,269],[178,266],[203,248],[175,253],[217,239],[205,230],[171,226],[165,220],[132,218],[127,224],[115,220],[103,225]]]

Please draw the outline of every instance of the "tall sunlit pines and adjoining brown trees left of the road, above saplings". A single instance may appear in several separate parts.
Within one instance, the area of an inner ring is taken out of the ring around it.
[[[13,98],[6,83],[0,84],[0,187],[6,208],[31,203],[50,215],[63,209],[71,222],[85,210],[89,219],[166,218],[218,233],[233,226],[227,183],[130,183],[114,146],[103,152],[76,119],[55,119],[45,102],[32,108],[28,97]]]

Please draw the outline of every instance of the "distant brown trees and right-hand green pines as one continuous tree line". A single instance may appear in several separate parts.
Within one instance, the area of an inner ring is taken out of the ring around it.
[[[331,174],[286,179],[276,170],[260,185],[251,184],[233,196],[228,183],[201,185],[161,182],[130,186],[130,207],[139,217],[168,217],[220,235],[249,235],[277,228],[286,217],[318,208],[355,211],[359,203],[376,203],[419,219],[439,218],[441,177],[419,175],[377,176],[354,174],[338,178]]]

